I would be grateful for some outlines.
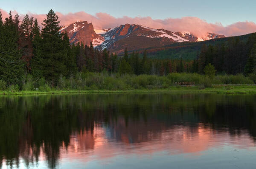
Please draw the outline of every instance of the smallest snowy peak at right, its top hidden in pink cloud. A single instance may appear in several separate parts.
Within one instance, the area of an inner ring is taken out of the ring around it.
[[[207,33],[204,37],[196,37],[190,32],[175,32],[175,34],[179,35],[180,37],[183,37],[185,39],[188,39],[191,42],[201,42],[204,40],[210,40],[210,39],[217,39],[217,38],[223,38],[224,35],[218,35],[214,33]]]

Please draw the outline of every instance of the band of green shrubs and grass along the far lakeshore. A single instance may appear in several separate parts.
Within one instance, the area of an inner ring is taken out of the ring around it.
[[[103,71],[102,73],[80,72],[68,78],[59,76],[57,85],[52,86],[51,82],[47,82],[44,78],[34,79],[28,74],[23,76],[21,85],[7,85],[5,81],[0,80],[0,94],[119,92],[256,93],[255,80],[253,76],[245,77],[242,74],[212,77],[198,73],[137,76],[111,74]],[[195,86],[180,86],[177,85],[178,82],[195,82]]]

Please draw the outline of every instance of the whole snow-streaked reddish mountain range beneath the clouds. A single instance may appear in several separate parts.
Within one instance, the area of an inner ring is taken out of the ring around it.
[[[76,22],[64,26],[60,30],[67,32],[70,43],[83,42],[98,49],[107,48],[110,51],[122,53],[125,48],[128,51],[137,51],[145,48],[156,48],[177,42],[197,42],[224,37],[223,35],[208,33],[206,37],[196,37],[189,32],[172,32],[165,29],[154,29],[136,24],[120,25],[116,28],[98,30],[87,21]]]

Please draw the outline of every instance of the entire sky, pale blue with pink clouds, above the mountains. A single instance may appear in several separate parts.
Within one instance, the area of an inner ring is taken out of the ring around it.
[[[227,36],[256,32],[255,6],[255,0],[0,0],[2,13],[16,11],[36,17],[53,9],[63,25],[87,20],[102,29],[136,23]]]

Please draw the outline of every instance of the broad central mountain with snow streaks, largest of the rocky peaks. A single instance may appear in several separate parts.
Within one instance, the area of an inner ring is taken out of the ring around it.
[[[189,40],[164,29],[154,29],[142,25],[125,24],[112,28],[102,34],[105,41],[98,48],[116,49],[119,47],[153,47],[168,45],[174,42],[188,42]],[[125,39],[126,42],[123,42]]]

